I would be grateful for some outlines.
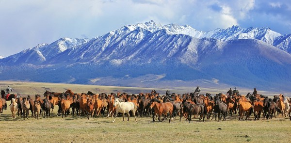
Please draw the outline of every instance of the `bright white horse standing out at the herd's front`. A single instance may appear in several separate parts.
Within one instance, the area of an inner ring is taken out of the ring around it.
[[[135,121],[137,122],[136,117],[135,117],[136,106],[132,102],[120,102],[119,100],[120,100],[119,98],[114,99],[113,107],[116,107],[116,111],[115,111],[115,117],[113,119],[113,122],[115,121],[115,118],[118,113],[122,113],[122,117],[123,117],[122,122],[124,122],[124,113],[127,113],[128,121],[129,121],[129,111],[132,111]]]

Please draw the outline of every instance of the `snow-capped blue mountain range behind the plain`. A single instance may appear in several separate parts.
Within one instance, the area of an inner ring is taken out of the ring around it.
[[[153,20],[93,39],[61,38],[0,59],[0,80],[291,91],[291,34],[232,26],[202,32]]]

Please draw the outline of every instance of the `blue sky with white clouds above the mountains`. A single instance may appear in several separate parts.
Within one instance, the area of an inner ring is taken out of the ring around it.
[[[93,38],[149,20],[199,31],[239,25],[291,33],[290,0],[0,0],[0,56],[59,38]]]

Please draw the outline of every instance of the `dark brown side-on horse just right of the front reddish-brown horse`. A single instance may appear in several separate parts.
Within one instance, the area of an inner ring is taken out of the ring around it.
[[[187,119],[189,123],[191,122],[192,115],[199,114],[199,122],[201,122],[201,118],[204,122],[204,114],[206,114],[206,108],[204,104],[191,104],[190,102],[183,100],[181,106],[183,106],[184,111],[188,113]],[[180,115],[180,119],[182,118],[182,114]]]

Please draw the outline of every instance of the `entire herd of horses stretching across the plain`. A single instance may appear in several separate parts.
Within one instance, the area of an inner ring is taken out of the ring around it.
[[[2,95],[2,90],[1,90]],[[111,94],[94,94],[90,91],[87,93],[73,93],[72,90],[66,90],[63,93],[46,91],[42,97],[40,94],[35,95],[33,100],[30,95],[22,97],[21,95],[10,95],[9,98],[0,99],[0,112],[7,109],[6,101],[11,100],[9,105],[12,118],[16,114],[20,118],[29,118],[30,111],[32,117],[36,119],[39,116],[49,117],[57,105],[59,110],[57,116],[62,118],[69,114],[72,116],[97,117],[103,116],[114,117],[121,113],[123,122],[125,113],[129,117],[133,116],[137,122],[136,116],[152,116],[153,122],[158,116],[159,122],[169,118],[171,120],[179,117],[179,121],[184,117],[189,123],[196,115],[199,116],[199,122],[205,122],[205,118],[211,120],[226,120],[227,114],[238,114],[239,120],[250,120],[252,113],[254,120],[262,118],[266,120],[276,118],[280,113],[282,117],[290,117],[291,120],[291,100],[284,95],[274,95],[270,98],[264,95],[224,95],[222,93],[212,96],[211,94],[198,95],[195,93],[160,95],[153,90],[151,93],[140,93],[138,95],[126,93]],[[115,115],[115,116],[114,116]],[[161,119],[162,118],[162,119]],[[217,119],[218,118],[218,119]]]

